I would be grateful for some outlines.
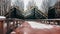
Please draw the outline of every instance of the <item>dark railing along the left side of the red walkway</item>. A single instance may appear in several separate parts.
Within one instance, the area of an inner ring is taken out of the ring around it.
[[[22,23],[24,23],[24,20],[22,19],[15,19],[15,18],[9,18],[9,19],[0,19],[0,21],[3,21],[3,34],[6,34],[9,32],[9,30],[15,30],[18,26],[20,26]]]

